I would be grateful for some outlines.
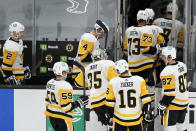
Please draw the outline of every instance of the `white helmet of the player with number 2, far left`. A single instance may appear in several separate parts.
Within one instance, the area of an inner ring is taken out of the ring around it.
[[[23,32],[24,30],[25,30],[24,25],[19,23],[19,22],[13,22],[9,26],[9,32],[10,33],[13,33],[14,31],[16,33],[19,33],[19,32]]]

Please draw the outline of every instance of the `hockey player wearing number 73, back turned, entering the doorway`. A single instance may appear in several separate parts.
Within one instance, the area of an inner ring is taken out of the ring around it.
[[[148,82],[149,72],[157,58],[155,54],[158,46],[154,43],[152,29],[146,26],[148,21],[146,11],[138,11],[137,21],[138,26],[131,26],[126,30],[124,51],[128,55],[129,71]],[[164,42],[164,38],[159,40],[159,44]]]

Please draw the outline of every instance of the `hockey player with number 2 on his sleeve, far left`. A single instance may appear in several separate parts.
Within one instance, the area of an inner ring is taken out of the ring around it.
[[[20,85],[24,79],[30,79],[29,67],[23,67],[23,32],[24,26],[13,22],[9,26],[9,37],[3,46],[3,62],[1,65],[5,84]]]

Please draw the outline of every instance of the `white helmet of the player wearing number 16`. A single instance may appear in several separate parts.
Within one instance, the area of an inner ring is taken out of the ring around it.
[[[126,60],[118,60],[114,64],[114,70],[118,73],[124,73],[125,71],[129,70],[129,64],[127,63]]]

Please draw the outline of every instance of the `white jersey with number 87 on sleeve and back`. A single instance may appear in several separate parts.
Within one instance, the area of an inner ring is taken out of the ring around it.
[[[183,110],[188,106],[187,67],[182,62],[167,65],[161,72],[163,95],[175,96],[167,107],[169,110]]]

